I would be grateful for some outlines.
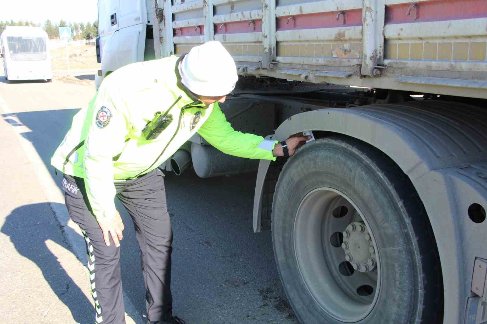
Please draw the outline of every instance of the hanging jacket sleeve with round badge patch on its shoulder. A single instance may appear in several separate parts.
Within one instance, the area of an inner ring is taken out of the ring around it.
[[[113,200],[116,194],[113,157],[122,151],[129,132],[125,107],[116,105],[113,97],[106,88],[100,88],[85,121],[89,127],[83,161],[85,185],[88,200],[99,223],[119,217]]]

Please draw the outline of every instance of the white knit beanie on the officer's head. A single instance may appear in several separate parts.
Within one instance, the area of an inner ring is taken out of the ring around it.
[[[230,93],[238,79],[232,56],[216,40],[193,47],[179,64],[179,72],[191,92],[208,97]]]

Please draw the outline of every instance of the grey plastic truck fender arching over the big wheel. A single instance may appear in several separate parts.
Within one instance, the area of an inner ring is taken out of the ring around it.
[[[487,244],[487,222],[477,224],[470,215],[472,204],[487,206],[486,119],[481,108],[429,100],[326,108],[289,117],[273,138],[284,141],[305,130],[347,135],[381,150],[409,176],[438,246],[446,294],[444,323],[458,324],[464,323],[463,306],[471,296],[475,257],[487,256],[482,251]],[[262,190],[269,165],[264,160],[259,165],[255,232],[261,228]]]

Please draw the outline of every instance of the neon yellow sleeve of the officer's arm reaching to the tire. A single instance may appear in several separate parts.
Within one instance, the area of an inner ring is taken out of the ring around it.
[[[270,141],[263,145],[262,136],[242,133],[233,129],[226,121],[225,114],[218,105],[214,103],[213,111],[201,126],[198,133],[211,145],[220,151],[248,159],[276,160],[272,155],[275,142]],[[277,141],[276,141],[277,142]]]

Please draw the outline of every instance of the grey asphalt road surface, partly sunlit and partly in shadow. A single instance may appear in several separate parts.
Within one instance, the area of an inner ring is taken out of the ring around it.
[[[88,86],[6,84],[0,76],[0,323],[93,323],[84,242],[67,216],[61,175],[49,165],[93,95]],[[252,231],[255,177],[167,173],[174,314],[188,324],[299,323],[282,290],[271,233]],[[125,224],[127,319],[142,323],[139,250],[130,217],[117,207]]]

